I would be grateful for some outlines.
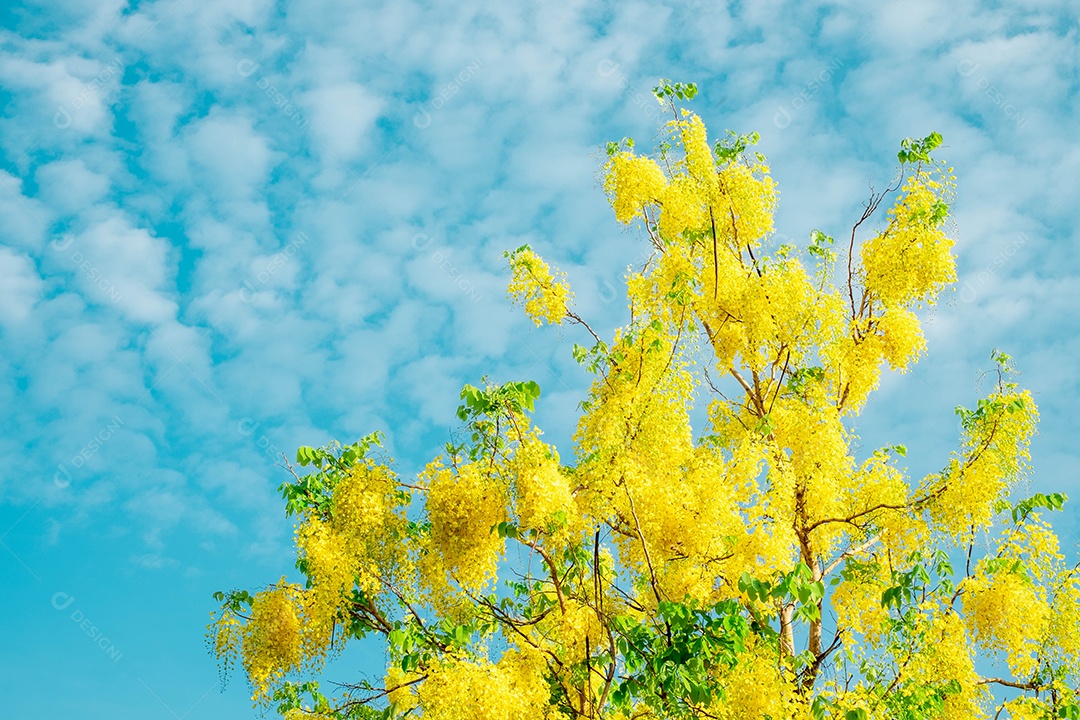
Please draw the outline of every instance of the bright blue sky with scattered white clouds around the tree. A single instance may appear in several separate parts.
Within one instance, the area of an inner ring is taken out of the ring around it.
[[[1042,413],[1030,487],[1080,495],[1075,8],[869,5],[4,3],[0,715],[255,717],[202,634],[214,590],[292,571],[280,452],[382,430],[415,472],[488,373],[540,383],[569,458],[584,340],[510,308],[502,252],[624,321],[644,244],[597,169],[650,146],[661,77],[714,136],[761,134],[794,241],[850,232],[900,140],[941,132],[959,283],[859,432],[940,467],[1000,348]]]

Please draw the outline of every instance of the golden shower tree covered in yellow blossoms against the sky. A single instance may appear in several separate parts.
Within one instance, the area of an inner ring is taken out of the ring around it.
[[[573,350],[594,379],[572,464],[531,423],[528,381],[467,385],[461,436],[415,480],[378,434],[300,448],[303,475],[286,460],[306,583],[217,594],[208,634],[257,703],[286,718],[1080,717],[1080,575],[1042,517],[1065,498],[1014,497],[1038,415],[1009,356],[957,408],[940,472],[909,479],[902,445],[856,457],[853,419],[885,365],[923,353],[915,310],[956,280],[941,136],[903,142],[845,248],[818,230],[775,246],[757,135],[711,147],[681,108],[696,92],[656,90],[673,119],[654,157],[608,146],[616,218],[651,250],[613,339],[528,246],[507,254],[529,317],[591,338]],[[310,678],[326,656],[373,634],[386,677],[325,696]]]

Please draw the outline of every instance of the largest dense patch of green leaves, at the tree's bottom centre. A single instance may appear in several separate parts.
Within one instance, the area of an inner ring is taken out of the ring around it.
[[[693,718],[694,705],[719,698],[713,675],[738,662],[750,624],[737,600],[701,608],[696,601],[662,601],[648,622],[611,619],[624,667],[611,692],[616,708],[643,703],[660,717]]]

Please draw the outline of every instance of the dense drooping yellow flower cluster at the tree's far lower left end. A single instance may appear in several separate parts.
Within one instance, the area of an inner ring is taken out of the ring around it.
[[[274,587],[257,594],[252,603],[242,656],[256,699],[265,698],[271,685],[302,661],[300,596],[299,586],[282,578]]]

